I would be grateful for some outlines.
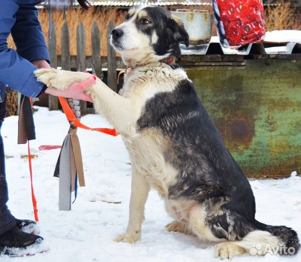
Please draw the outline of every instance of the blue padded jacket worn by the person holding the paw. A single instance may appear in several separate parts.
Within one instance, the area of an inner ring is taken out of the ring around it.
[[[27,97],[36,97],[44,84],[33,75],[36,67],[30,61],[50,56],[38,21],[35,4],[40,0],[1,0],[0,7],[0,97],[5,84]],[[7,47],[12,34],[17,51]]]

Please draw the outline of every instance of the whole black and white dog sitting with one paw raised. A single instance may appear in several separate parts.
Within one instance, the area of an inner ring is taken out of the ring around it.
[[[140,239],[152,187],[174,218],[166,229],[219,243],[216,255],[220,258],[249,252],[256,244],[261,244],[262,251],[269,245],[297,252],[300,244],[294,230],[255,219],[255,200],[247,178],[193,83],[170,59],[180,57],[179,42],[187,46],[188,34],[164,9],[131,9],[111,36],[125,65],[132,67],[120,95],[100,79],[86,89],[97,112],[121,134],[132,161],[129,224],[116,240],[134,243]],[[58,89],[90,77],[55,69],[40,69],[35,74]]]

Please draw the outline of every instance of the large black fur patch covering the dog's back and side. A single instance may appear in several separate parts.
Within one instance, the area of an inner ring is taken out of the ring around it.
[[[146,102],[138,129],[156,128],[169,140],[165,160],[179,170],[169,187],[169,197],[202,202],[210,197],[230,197],[225,203],[254,219],[255,202],[249,181],[226,148],[216,126],[189,80],[173,92],[159,93]]]

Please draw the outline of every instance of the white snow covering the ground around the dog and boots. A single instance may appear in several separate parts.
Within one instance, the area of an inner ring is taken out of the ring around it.
[[[164,226],[172,219],[155,191],[146,204],[142,239],[135,245],[116,243],[128,220],[131,187],[131,165],[121,137],[79,130],[86,186],[79,188],[72,211],[58,211],[58,180],[52,177],[59,149],[39,151],[41,145],[61,145],[68,130],[65,115],[59,111],[37,108],[34,114],[37,139],[31,141],[34,190],[38,201],[42,246],[33,252],[50,248],[46,253],[23,258],[0,257],[0,261],[22,262],[202,262],[214,258],[214,246],[194,236],[167,232]],[[99,115],[86,115],[83,123],[92,127],[109,127]],[[26,145],[17,145],[17,116],[6,118],[1,129],[4,136],[8,202],[18,218],[33,219]],[[292,170],[294,171],[294,170]],[[285,180],[252,180],[256,197],[256,218],[272,225],[286,225],[301,235],[301,178],[295,173]],[[121,202],[108,203],[108,202]],[[237,262],[301,261],[294,257],[267,255],[242,256]]]

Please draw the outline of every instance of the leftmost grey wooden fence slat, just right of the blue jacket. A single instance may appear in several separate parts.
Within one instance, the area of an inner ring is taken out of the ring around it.
[[[51,38],[48,36],[48,50],[50,54],[50,60],[51,60],[51,67],[56,68],[57,67],[57,55],[56,55],[56,33],[55,33],[55,26],[53,21],[51,21],[52,24],[52,35]],[[59,102],[57,97],[48,95],[48,108],[49,110],[58,110]]]

